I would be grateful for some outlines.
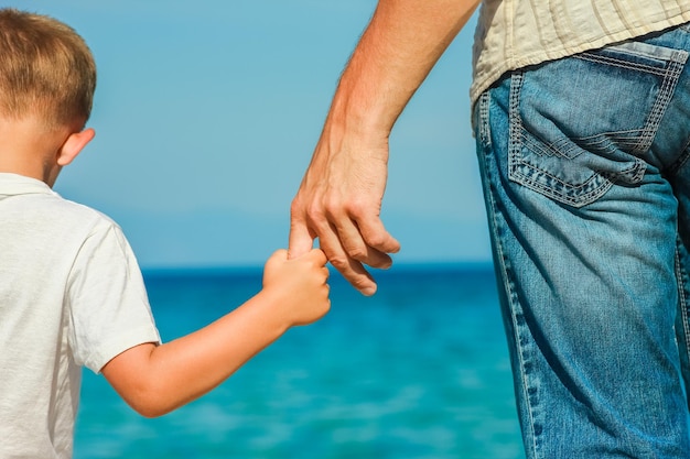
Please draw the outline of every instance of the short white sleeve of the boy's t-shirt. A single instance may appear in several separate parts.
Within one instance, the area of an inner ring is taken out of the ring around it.
[[[69,346],[75,362],[98,373],[114,357],[160,342],[141,270],[120,228],[96,226],[67,284]]]

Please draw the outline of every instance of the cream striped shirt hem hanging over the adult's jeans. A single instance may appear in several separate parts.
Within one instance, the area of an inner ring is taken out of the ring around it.
[[[479,94],[508,70],[690,22],[690,0],[485,0],[474,44]]]

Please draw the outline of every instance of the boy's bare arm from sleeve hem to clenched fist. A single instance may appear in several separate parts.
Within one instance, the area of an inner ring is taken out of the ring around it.
[[[213,324],[165,345],[140,345],[101,370],[138,413],[153,417],[211,391],[290,327],[323,317],[328,308],[325,255],[313,250],[269,259],[263,289]]]

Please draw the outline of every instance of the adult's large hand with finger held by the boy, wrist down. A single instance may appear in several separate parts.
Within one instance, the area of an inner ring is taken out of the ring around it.
[[[334,139],[324,130],[312,163],[292,201],[290,256],[319,238],[331,264],[364,295],[376,283],[364,267],[386,269],[400,244],[380,220],[388,176],[388,140]]]

